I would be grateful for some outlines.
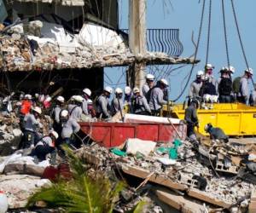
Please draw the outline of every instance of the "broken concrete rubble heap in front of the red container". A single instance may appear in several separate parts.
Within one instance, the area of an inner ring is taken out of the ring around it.
[[[232,212],[245,212],[255,190],[253,181],[244,181],[238,174],[238,170],[245,170],[246,165],[237,165],[236,174],[233,171],[230,172],[232,166],[236,166],[232,163],[229,165],[225,162],[225,170],[218,170],[218,161],[220,161],[218,155],[222,153],[224,158],[226,156],[245,158],[245,154],[248,153],[248,150],[253,149],[253,145],[238,146],[214,141],[211,147],[207,147],[201,143],[201,150],[207,150],[211,158],[213,157],[211,165],[209,164],[210,157],[202,156],[198,152],[199,147],[195,147],[189,141],[181,142],[182,144],[177,147],[177,158],[175,159],[170,158],[169,152],[173,143],[158,143],[154,147],[154,152],[148,156],[140,152],[134,155],[127,154],[125,146],[114,151],[110,149],[110,153],[108,153],[108,149],[96,145],[93,147],[93,160],[90,158],[89,162],[108,165],[108,170],[111,170],[113,164],[107,163],[107,161],[114,161],[119,169],[126,174],[182,193],[184,198],[195,199],[193,201],[195,203],[207,204],[208,210],[221,208]],[[84,153],[83,158],[86,160],[90,156],[90,147],[84,147],[79,152]],[[225,159],[225,161],[227,160]],[[248,172],[253,174],[252,171]]]

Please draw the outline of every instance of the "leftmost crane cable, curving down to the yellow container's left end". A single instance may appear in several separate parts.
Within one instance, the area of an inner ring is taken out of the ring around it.
[[[196,43],[196,47],[195,47],[194,63],[192,64],[191,70],[189,72],[189,78],[188,78],[187,82],[185,83],[185,86],[183,87],[183,90],[182,90],[181,94],[178,95],[177,98],[173,102],[176,102],[183,95],[185,89],[187,88],[187,86],[189,84],[189,80],[191,78],[192,72],[195,68],[195,60],[196,60],[196,56],[197,56],[197,52],[198,52],[199,43],[200,43],[200,40],[201,40],[201,29],[202,29],[202,24],[203,24],[203,20],[204,20],[205,5],[206,5],[206,0],[203,0],[203,5],[202,5],[202,9],[201,9],[201,23],[200,23],[199,34],[198,34],[197,43]]]

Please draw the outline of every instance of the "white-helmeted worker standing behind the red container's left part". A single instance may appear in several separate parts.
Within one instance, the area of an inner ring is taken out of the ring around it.
[[[109,105],[109,98],[112,94],[113,89],[111,87],[105,87],[100,95],[96,100],[96,117],[102,119],[109,119],[111,118],[111,107]]]

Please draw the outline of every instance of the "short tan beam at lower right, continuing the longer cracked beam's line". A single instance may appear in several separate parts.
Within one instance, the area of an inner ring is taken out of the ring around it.
[[[192,188],[188,190],[188,195],[195,199],[203,200],[209,204],[215,204],[224,208],[229,208],[232,203],[224,202],[223,200],[212,197],[210,193],[202,192],[198,189]]]

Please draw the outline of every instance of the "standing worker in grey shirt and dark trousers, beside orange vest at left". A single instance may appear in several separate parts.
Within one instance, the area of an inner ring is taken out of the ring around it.
[[[38,128],[43,128],[39,121],[39,115],[42,113],[40,107],[32,107],[31,112],[24,118],[24,132],[22,149],[34,146],[38,141]]]

